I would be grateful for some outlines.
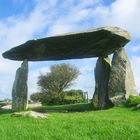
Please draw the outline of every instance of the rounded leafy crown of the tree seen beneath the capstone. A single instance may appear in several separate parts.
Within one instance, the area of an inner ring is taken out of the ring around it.
[[[38,86],[43,93],[61,93],[73,84],[78,77],[79,70],[69,64],[56,64],[51,66],[51,71],[41,74],[38,78]]]

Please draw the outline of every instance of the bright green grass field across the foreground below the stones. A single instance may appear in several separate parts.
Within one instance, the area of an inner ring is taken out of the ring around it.
[[[0,110],[0,140],[140,140],[140,111],[114,107],[33,119]]]

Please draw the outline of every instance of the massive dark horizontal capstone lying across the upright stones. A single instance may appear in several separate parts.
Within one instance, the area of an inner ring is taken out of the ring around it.
[[[45,61],[101,57],[113,53],[130,41],[127,31],[103,27],[85,32],[30,40],[3,53],[17,61]]]

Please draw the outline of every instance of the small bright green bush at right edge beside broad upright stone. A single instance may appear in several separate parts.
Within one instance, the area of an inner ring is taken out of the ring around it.
[[[127,99],[127,101],[126,101],[126,105],[128,107],[137,106],[138,104],[140,104],[140,96],[130,95],[129,98]]]

